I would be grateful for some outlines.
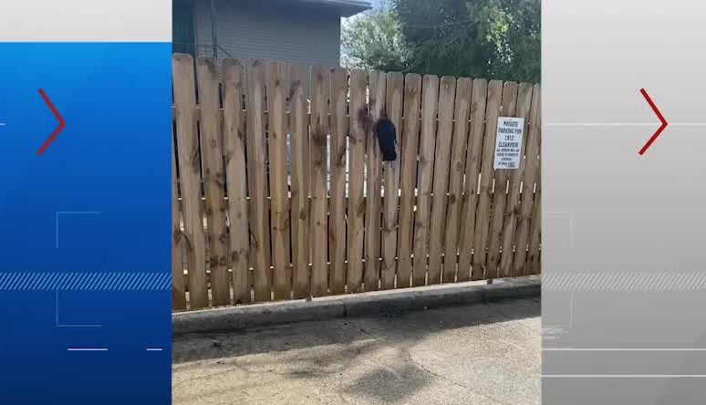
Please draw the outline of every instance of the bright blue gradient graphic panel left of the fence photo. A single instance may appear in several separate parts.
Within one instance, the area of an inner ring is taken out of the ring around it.
[[[0,55],[0,403],[169,403],[171,44]]]

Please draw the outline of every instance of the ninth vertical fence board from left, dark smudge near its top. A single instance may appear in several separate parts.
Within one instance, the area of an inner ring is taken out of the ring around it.
[[[365,94],[368,73],[350,72],[350,108],[348,138],[348,293],[361,292],[363,278],[363,226],[365,200],[363,173],[368,130],[365,126]]]

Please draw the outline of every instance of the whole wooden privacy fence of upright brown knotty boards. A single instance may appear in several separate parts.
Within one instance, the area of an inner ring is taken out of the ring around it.
[[[175,309],[539,273],[539,85],[172,67]],[[383,112],[397,161],[381,161]],[[498,117],[524,118],[518,170],[493,170]]]

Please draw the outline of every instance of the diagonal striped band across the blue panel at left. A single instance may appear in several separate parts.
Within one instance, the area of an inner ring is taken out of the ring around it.
[[[171,289],[168,273],[0,273],[0,291],[155,291]]]

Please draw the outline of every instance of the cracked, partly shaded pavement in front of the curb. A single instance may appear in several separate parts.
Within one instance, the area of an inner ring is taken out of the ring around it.
[[[176,337],[174,404],[540,403],[535,298]]]

